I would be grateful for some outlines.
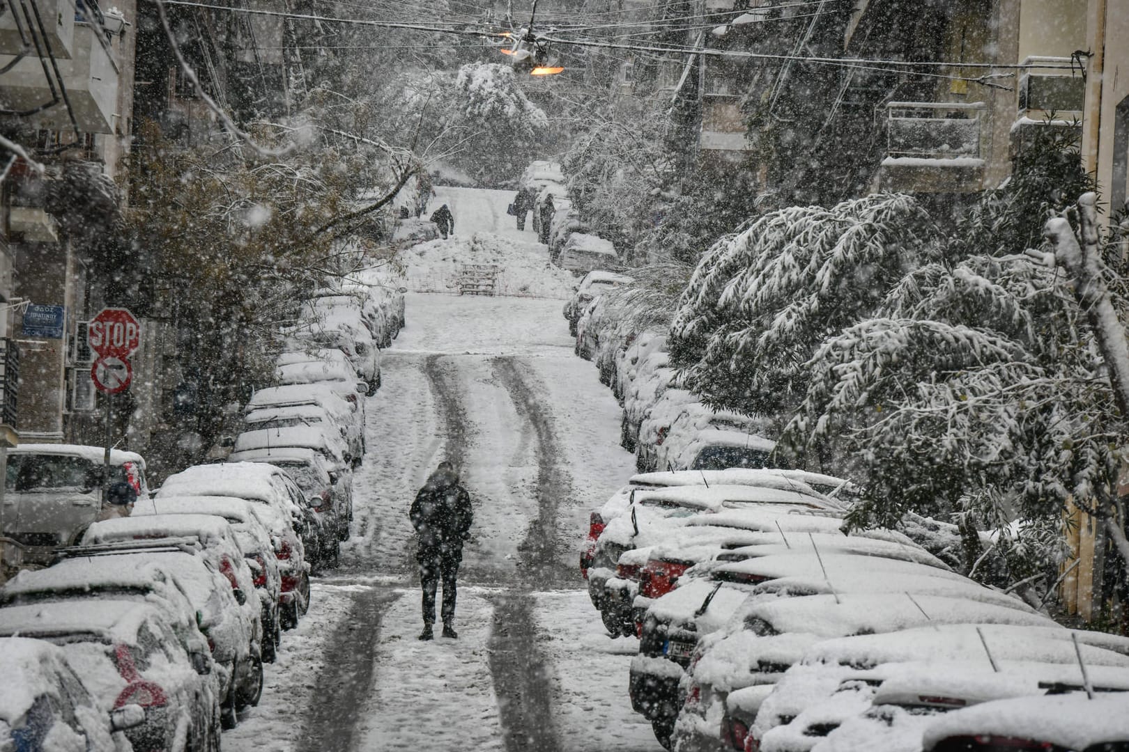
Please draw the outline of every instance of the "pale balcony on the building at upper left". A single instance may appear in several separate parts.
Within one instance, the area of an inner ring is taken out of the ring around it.
[[[86,133],[113,133],[119,68],[103,27],[97,23],[76,21],[72,52],[70,60],[59,60],[58,65],[78,126]],[[0,55],[0,68],[12,61],[11,55]],[[38,57],[24,57],[0,76],[0,106],[26,112],[49,101],[51,87]],[[71,127],[61,98],[42,112],[27,115],[24,123],[33,129],[55,131]]]

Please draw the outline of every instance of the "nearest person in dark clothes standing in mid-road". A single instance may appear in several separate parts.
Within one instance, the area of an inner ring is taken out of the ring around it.
[[[474,512],[471,495],[458,483],[450,462],[440,462],[415,494],[409,517],[419,536],[415,560],[423,590],[423,631],[420,639],[431,639],[435,623],[435,594],[443,580],[443,636],[456,639],[455,578],[463,560],[463,541],[470,538]]]

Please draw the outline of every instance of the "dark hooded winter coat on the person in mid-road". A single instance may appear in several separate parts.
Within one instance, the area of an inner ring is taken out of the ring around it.
[[[462,560],[474,512],[471,495],[458,485],[457,475],[443,468],[432,472],[415,494],[409,517],[419,536],[417,558]]]

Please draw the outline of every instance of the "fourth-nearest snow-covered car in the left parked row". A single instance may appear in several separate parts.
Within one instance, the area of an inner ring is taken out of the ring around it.
[[[235,704],[236,707],[257,705],[263,691],[263,607],[231,525],[211,514],[152,514],[96,522],[82,537],[87,547],[131,545],[139,540],[196,542],[200,558],[222,576],[221,581],[215,581],[212,590],[215,596],[222,599],[224,639],[229,639],[235,653]],[[219,629],[213,627],[209,638],[218,644]]]

